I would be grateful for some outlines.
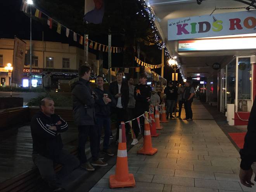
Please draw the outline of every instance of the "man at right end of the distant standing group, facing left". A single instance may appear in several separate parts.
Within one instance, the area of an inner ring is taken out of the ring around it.
[[[184,108],[185,108],[185,112],[186,112],[186,118],[184,118],[183,120],[187,120],[187,121],[192,121],[193,119],[193,112],[192,112],[192,102],[194,99],[194,95],[195,95],[195,89],[192,86],[192,82],[191,81],[187,81],[185,83],[185,90],[183,93],[183,97],[182,99],[184,100]]]

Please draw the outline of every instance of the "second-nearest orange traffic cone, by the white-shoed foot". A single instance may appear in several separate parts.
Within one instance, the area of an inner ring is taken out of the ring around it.
[[[149,114],[145,111],[145,124],[144,124],[144,140],[143,147],[138,150],[138,154],[154,155],[157,152],[156,148],[152,148],[152,140],[150,135],[150,128],[148,119]]]

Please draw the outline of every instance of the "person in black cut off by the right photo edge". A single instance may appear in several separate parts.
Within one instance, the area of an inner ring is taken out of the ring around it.
[[[247,133],[244,138],[244,147],[240,149],[241,163],[240,163],[240,182],[246,187],[254,185],[251,182],[253,172],[256,173],[256,99],[254,99],[253,107],[251,109]],[[256,181],[256,179],[254,179]]]

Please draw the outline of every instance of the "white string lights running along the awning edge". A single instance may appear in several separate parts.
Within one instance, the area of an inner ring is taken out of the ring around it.
[[[176,56],[175,56],[175,57],[172,57],[172,56],[170,55],[170,53],[169,53],[168,50],[167,50],[166,45],[164,44],[163,41],[161,41],[161,38],[158,36],[158,33],[157,33],[158,30],[157,30],[157,28],[156,28],[156,26],[155,26],[155,24],[154,24],[154,21],[156,20],[156,16],[153,14],[152,8],[150,7],[149,4],[146,4],[146,3],[145,3],[145,0],[137,0],[137,1],[138,1],[138,3],[140,3],[140,4],[142,5],[144,11],[147,12],[147,15],[148,15],[149,21],[150,21],[150,25],[151,25],[151,28],[152,28],[152,33],[155,33],[155,36],[154,36],[154,37],[155,37],[156,45],[158,46],[158,48],[159,48],[160,50],[164,49],[164,55],[167,57],[167,61],[168,61],[169,59],[174,59],[174,60],[176,61],[176,58],[177,58],[177,57],[176,57]],[[140,10],[140,11],[141,11],[140,14],[145,17],[145,13],[143,12],[143,10]],[[139,12],[137,12],[137,14],[139,14]],[[152,22],[152,21],[153,21],[153,22]],[[177,61],[176,61],[176,65],[177,65],[177,68],[179,69],[180,74],[181,74],[181,76],[182,76],[182,79],[183,79],[183,81],[184,81],[186,78],[185,78],[185,76],[184,76],[184,74],[183,74],[182,67],[180,66],[180,64],[179,64]]]

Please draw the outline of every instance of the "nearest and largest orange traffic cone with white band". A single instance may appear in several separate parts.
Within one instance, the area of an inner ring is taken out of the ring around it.
[[[126,149],[125,123],[121,122],[118,139],[118,154],[116,159],[116,173],[109,176],[109,187],[134,187],[133,174],[128,170],[128,159]]]

